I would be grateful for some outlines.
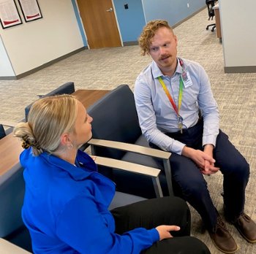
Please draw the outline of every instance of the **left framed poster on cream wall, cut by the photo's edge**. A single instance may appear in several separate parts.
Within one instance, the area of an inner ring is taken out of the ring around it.
[[[22,20],[14,0],[0,0],[0,23],[2,28],[22,24]]]

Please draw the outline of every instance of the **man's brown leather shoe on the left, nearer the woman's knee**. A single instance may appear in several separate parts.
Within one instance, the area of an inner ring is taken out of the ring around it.
[[[217,218],[216,226],[212,231],[209,231],[209,234],[214,245],[217,249],[222,251],[222,253],[235,253],[236,250],[238,250],[235,239],[233,239],[233,236],[227,231],[227,227],[220,216]]]

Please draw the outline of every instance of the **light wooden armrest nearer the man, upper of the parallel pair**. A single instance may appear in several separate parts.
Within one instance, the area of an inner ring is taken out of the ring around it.
[[[132,153],[140,153],[143,155],[152,156],[154,158],[169,159],[171,153],[162,150],[157,150],[151,147],[143,147],[141,145],[128,144],[124,142],[117,142],[105,139],[91,139],[88,142],[89,145],[96,145],[99,147],[110,147],[118,150],[123,150]]]

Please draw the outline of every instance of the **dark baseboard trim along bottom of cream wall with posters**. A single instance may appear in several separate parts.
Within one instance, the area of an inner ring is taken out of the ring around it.
[[[64,60],[64,59],[68,58],[71,55],[75,55],[76,53],[79,53],[80,51],[87,50],[87,49],[88,49],[87,46],[86,47],[80,47],[78,50],[74,50],[70,53],[67,53],[66,55],[61,55],[59,58],[53,59],[52,61],[49,61],[48,63],[44,63],[41,66],[38,66],[34,69],[31,69],[28,72],[23,72],[21,74],[18,74],[17,76],[0,77],[0,80],[19,80],[22,77],[26,77],[30,74],[33,74],[35,72],[40,71],[41,69],[45,69],[46,67],[52,65],[53,63],[57,63],[61,60]]]

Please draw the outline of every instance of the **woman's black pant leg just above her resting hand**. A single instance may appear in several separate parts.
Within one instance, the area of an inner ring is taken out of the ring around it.
[[[187,203],[177,197],[148,199],[111,210],[116,222],[116,233],[123,234],[134,228],[156,228],[159,225],[180,226],[173,236],[189,236],[190,210]]]

